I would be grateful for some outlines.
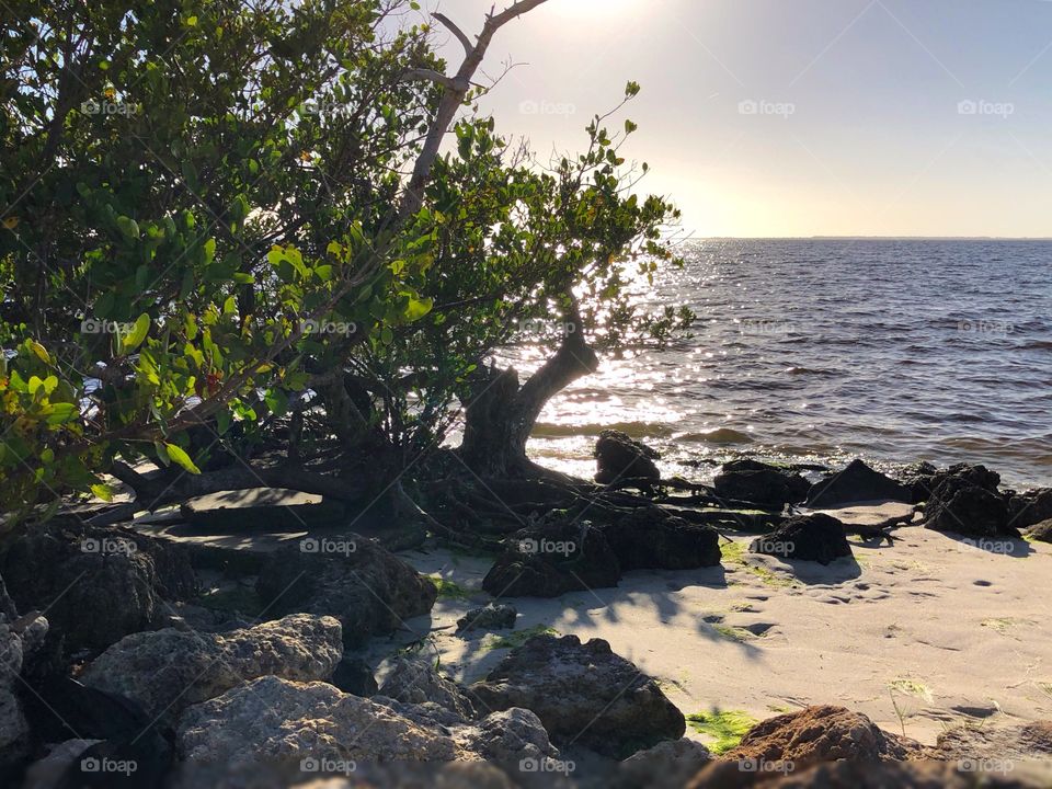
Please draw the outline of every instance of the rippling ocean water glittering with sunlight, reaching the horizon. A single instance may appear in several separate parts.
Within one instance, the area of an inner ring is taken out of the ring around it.
[[[529,451],[588,476],[601,430],[711,478],[740,456],[883,470],[982,462],[1052,485],[1052,241],[706,240],[639,300],[690,336],[605,357],[551,400]],[[530,366],[528,348],[511,361]]]

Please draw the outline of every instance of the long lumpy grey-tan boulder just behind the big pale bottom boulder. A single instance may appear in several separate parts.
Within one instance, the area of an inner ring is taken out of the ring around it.
[[[332,617],[296,614],[226,633],[134,633],[92,661],[81,678],[171,721],[247,679],[328,679],[343,655],[340,630]]]

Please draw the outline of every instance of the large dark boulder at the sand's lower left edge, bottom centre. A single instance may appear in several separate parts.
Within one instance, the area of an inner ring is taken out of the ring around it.
[[[536,636],[470,691],[484,709],[531,710],[556,744],[574,741],[616,757],[678,740],[686,729],[654,681],[602,639]]]

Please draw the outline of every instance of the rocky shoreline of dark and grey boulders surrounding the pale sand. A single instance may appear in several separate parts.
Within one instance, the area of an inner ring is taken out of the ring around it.
[[[1052,540],[1052,490],[1003,491],[982,466],[919,464],[891,479],[855,461],[808,479],[747,459],[706,488],[662,480],[653,451],[622,434],[605,433],[596,454],[608,493],[630,484],[653,506],[594,523],[550,507],[495,556],[461,554],[481,568],[468,590],[414,567],[412,556],[459,561],[426,534],[277,529],[267,541],[241,523],[232,542],[209,537],[229,538],[245,516],[236,506],[188,526],[196,513],[186,506],[124,526],[89,526],[70,510],[8,535],[4,785],[965,787],[977,771],[986,786],[1052,780],[1047,720],[948,727],[922,744],[904,722],[895,734],[825,704],[836,697],[822,697],[817,674],[807,702],[713,743],[714,719],[696,725],[667,677],[587,638],[591,626],[524,628],[516,611],[528,599],[570,611],[574,595],[591,594],[599,605],[582,610],[609,615],[597,593],[631,588],[640,573],[727,590],[737,572],[774,596],[815,584],[809,573],[859,567],[862,551],[907,554],[902,535],[916,529],[991,556],[1026,551]],[[897,510],[870,506],[868,521],[831,514],[859,502]],[[857,578],[834,575],[819,584],[833,596]],[[450,599],[456,625],[436,615]],[[745,643],[773,625],[721,615],[698,627]]]

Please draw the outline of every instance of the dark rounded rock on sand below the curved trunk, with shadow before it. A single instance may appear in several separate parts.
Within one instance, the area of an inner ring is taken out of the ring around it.
[[[587,521],[558,521],[506,540],[482,588],[494,597],[558,597],[616,586],[620,578],[620,563],[602,529]]]

